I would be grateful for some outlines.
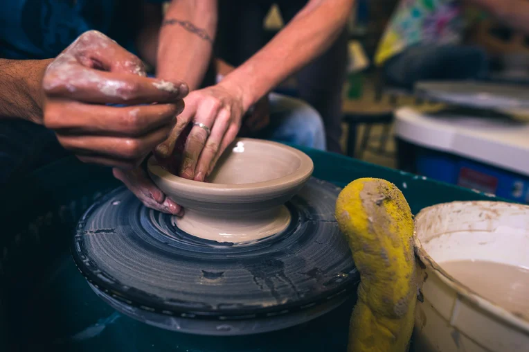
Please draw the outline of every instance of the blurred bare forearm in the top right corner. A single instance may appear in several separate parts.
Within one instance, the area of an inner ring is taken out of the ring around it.
[[[529,34],[528,0],[467,0],[485,8],[505,26]]]

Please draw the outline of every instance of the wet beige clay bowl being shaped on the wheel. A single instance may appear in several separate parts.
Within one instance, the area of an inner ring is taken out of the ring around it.
[[[285,207],[310,179],[314,164],[305,153],[271,141],[237,139],[206,182],[191,181],[147,162],[150,177],[186,209],[176,225],[219,243],[253,242],[278,234],[290,223]]]

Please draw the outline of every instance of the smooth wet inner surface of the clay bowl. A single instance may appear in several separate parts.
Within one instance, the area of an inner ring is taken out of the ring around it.
[[[253,184],[280,179],[301,166],[299,155],[280,144],[251,139],[236,141],[208,177],[211,184]]]

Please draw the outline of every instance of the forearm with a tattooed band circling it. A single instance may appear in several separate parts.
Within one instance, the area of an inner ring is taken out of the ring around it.
[[[216,28],[216,0],[172,1],[160,31],[156,76],[197,89],[208,69]]]

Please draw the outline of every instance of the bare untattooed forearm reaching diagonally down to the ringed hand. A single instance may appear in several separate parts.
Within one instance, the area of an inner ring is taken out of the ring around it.
[[[263,49],[226,76],[248,109],[292,73],[323,53],[343,30],[354,0],[311,0]]]

